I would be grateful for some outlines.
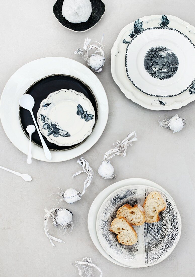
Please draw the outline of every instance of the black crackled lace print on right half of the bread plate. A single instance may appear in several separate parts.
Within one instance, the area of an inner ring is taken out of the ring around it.
[[[145,197],[150,193],[146,190]],[[160,212],[160,221],[145,223],[145,263],[149,265],[160,260],[176,243],[179,235],[179,220],[174,206],[166,196],[167,209]]]

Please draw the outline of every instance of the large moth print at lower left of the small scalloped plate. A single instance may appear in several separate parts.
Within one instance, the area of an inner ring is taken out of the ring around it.
[[[54,137],[70,137],[71,135],[66,130],[63,130],[61,127],[59,127],[58,123],[52,122],[47,116],[44,116],[41,114],[41,121],[43,124],[43,129],[45,129],[47,132],[47,135],[53,135]]]

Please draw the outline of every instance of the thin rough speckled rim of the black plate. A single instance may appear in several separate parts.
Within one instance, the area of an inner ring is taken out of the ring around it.
[[[74,77],[74,76],[72,76],[72,75],[62,74],[62,73],[55,73],[55,74],[46,75],[46,76],[44,76],[44,77],[38,79],[37,81],[35,81],[33,84],[31,84],[31,85],[27,88],[27,90],[25,91],[24,94],[26,94],[26,93],[28,92],[28,90],[29,90],[34,84],[36,84],[38,81],[40,81],[40,80],[42,80],[42,79],[45,79],[45,78],[47,78],[47,77],[56,76],[56,75],[58,75],[58,76],[59,76],[59,75],[60,75],[60,76],[68,76],[68,77],[72,77],[72,78],[74,78],[74,79],[77,79],[77,80],[79,80],[80,82],[82,82],[82,83],[90,90],[90,92],[92,93],[93,98],[95,99],[96,108],[97,108],[97,115],[96,115],[95,123],[94,123],[93,128],[92,128],[92,132],[93,132],[93,129],[95,128],[95,125],[96,125],[97,120],[98,120],[98,103],[97,103],[97,99],[96,99],[96,97],[95,97],[95,95],[94,95],[92,89],[91,89],[87,84],[85,84],[85,82],[83,82],[82,80],[80,80],[79,78]],[[29,135],[25,132],[25,130],[24,130],[23,126],[22,126],[21,117],[20,117],[20,109],[21,109],[21,106],[19,105],[19,121],[20,121],[20,125],[21,125],[21,128],[22,128],[22,130],[23,130],[25,136],[26,136],[28,139],[30,139]],[[88,136],[88,137],[89,137],[89,136]],[[50,149],[50,148],[49,148],[49,150],[50,150],[50,151],[54,151],[54,152],[68,151],[68,150],[71,150],[71,149],[74,149],[74,148],[77,148],[78,146],[80,146],[82,143],[85,142],[85,140],[87,140],[88,137],[86,137],[82,142],[78,143],[78,144],[75,145],[74,147],[70,147],[70,148],[68,148],[68,149]],[[34,145],[38,146],[39,148],[43,148],[43,146],[37,144],[37,143],[34,142],[33,140],[32,140],[32,143],[33,143]]]

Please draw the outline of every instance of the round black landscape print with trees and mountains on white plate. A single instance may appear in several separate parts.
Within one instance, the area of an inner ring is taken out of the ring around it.
[[[156,79],[169,79],[178,70],[179,61],[171,49],[163,46],[150,48],[144,58],[144,68]]]

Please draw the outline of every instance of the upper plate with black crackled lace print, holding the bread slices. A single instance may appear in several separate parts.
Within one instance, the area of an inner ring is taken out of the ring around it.
[[[160,212],[160,221],[133,226],[138,242],[132,246],[118,243],[116,234],[110,232],[116,211],[129,203],[131,206],[143,205],[151,191],[159,191],[167,202],[167,209]],[[175,202],[160,189],[150,186],[126,186],[111,193],[105,199],[97,215],[97,235],[103,249],[119,263],[133,267],[151,266],[170,255],[181,235],[181,217]]]

